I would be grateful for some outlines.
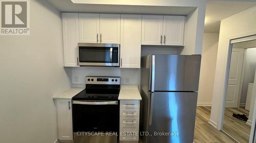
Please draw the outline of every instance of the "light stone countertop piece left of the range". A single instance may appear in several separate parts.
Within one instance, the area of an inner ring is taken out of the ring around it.
[[[53,96],[53,99],[72,99],[73,96],[77,95],[83,88],[71,88],[70,90]]]

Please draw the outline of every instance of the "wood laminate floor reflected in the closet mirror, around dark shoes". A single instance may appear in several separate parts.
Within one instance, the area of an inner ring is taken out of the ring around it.
[[[226,108],[223,130],[241,143],[248,143],[251,126],[232,117],[233,113],[249,115],[244,108]]]

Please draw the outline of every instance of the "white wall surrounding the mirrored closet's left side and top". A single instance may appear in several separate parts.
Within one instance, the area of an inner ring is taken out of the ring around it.
[[[221,129],[229,40],[256,34],[256,7],[221,21],[210,123]],[[255,80],[255,79],[254,79]],[[256,93],[255,93],[256,94]]]

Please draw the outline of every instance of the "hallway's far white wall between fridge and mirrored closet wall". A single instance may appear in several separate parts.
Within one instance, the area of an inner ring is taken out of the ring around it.
[[[210,106],[214,90],[219,33],[204,33],[198,105]]]

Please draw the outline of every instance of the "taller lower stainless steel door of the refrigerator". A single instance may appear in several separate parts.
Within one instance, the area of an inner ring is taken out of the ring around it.
[[[197,93],[155,92],[149,97],[147,143],[192,143]]]

